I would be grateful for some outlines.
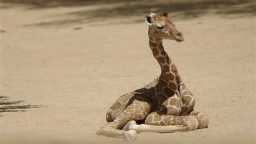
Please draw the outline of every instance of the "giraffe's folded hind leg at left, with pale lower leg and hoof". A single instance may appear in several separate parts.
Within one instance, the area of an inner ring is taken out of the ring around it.
[[[111,137],[119,137],[124,140],[136,140],[136,131],[130,129],[127,131],[122,129],[127,122],[131,120],[145,119],[150,112],[150,104],[145,101],[134,100],[131,105],[127,106],[122,113],[112,122],[107,122],[102,128],[97,131],[98,135],[105,135]]]

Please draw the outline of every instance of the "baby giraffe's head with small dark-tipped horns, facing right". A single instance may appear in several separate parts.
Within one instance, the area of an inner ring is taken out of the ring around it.
[[[154,35],[157,39],[171,39],[177,42],[184,40],[183,35],[175,28],[166,12],[146,14],[145,21],[149,25],[149,35]]]

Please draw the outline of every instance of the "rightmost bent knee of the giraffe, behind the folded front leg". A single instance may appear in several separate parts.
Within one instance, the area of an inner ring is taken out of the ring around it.
[[[210,119],[209,119],[209,116],[206,113],[192,111],[192,112],[190,112],[189,115],[193,115],[197,118],[197,120],[199,122],[198,128],[207,128],[208,127]]]

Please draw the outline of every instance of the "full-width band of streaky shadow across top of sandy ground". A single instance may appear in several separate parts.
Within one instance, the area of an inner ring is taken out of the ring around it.
[[[166,11],[170,13],[170,17],[177,19],[190,19],[205,15],[205,13],[212,12],[215,15],[223,17],[229,15],[241,16],[255,16],[255,1],[252,0],[184,0],[184,1],[128,1],[128,0],[0,0],[0,2],[14,2],[33,4],[28,9],[45,9],[52,7],[68,7],[68,6],[84,6],[82,10],[56,14],[52,17],[69,16],[68,18],[51,20],[48,22],[39,22],[29,24],[26,26],[48,26],[48,25],[64,25],[72,23],[94,23],[104,22],[107,19],[123,18],[122,22],[113,23],[137,23],[143,22],[143,15],[149,12]],[[88,9],[86,6],[93,6],[95,8]],[[132,18],[131,18],[132,17]],[[137,18],[134,18],[137,17]]]

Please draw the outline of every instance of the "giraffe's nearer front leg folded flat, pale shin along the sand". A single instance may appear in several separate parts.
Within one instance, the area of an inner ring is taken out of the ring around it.
[[[160,115],[156,112],[149,114],[145,124],[136,125],[135,121],[130,121],[124,130],[134,130],[140,132],[173,133],[183,131],[193,131],[198,128],[198,120],[192,116]]]

